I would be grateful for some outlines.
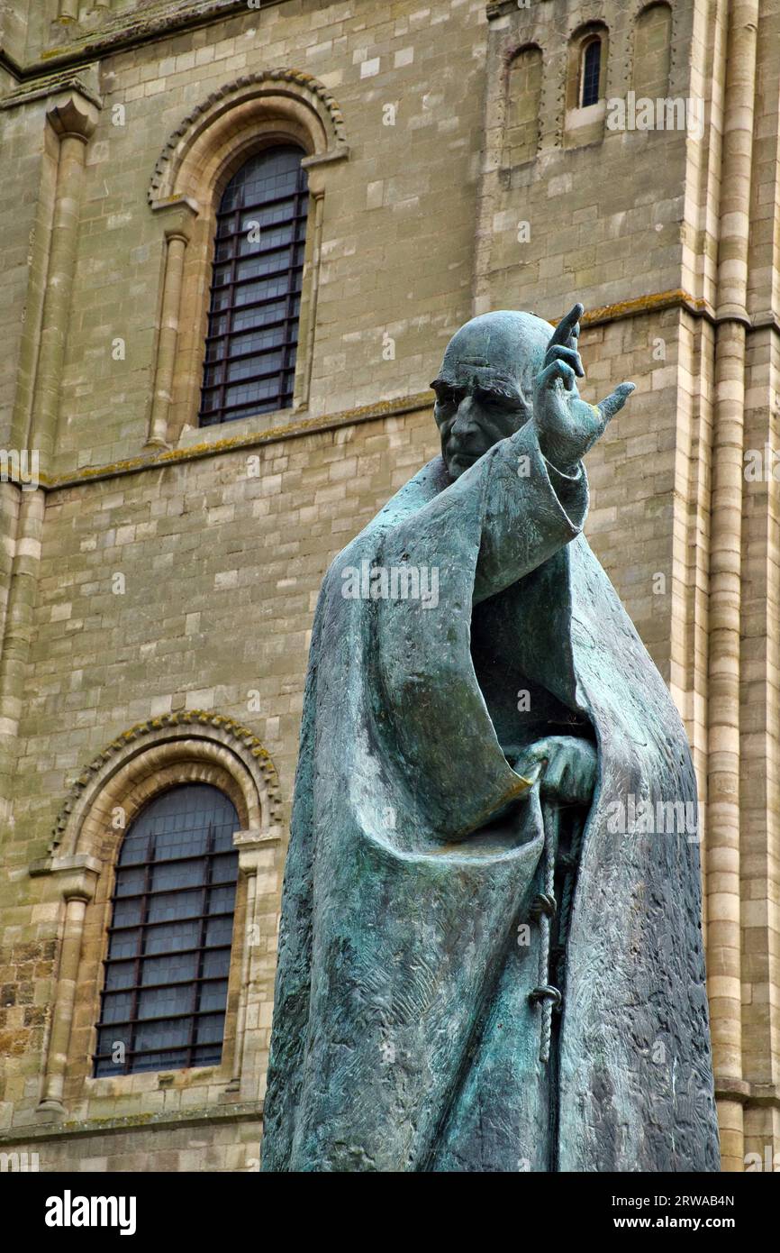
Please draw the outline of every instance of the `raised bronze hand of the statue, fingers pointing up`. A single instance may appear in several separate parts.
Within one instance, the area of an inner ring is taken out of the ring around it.
[[[533,383],[533,421],[540,449],[563,474],[575,474],[578,462],[626,403],[634,383],[620,383],[600,405],[588,405],[577,391],[585,377],[577,351],[582,304],[575,304],[555,328],[545,363]]]

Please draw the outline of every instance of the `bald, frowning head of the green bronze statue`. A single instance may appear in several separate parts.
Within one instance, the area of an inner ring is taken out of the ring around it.
[[[532,381],[552,327],[532,313],[472,318],[452,337],[431,383],[442,456],[457,479],[531,417]]]

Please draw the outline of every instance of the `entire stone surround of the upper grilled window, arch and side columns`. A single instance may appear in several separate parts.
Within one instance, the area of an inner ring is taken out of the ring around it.
[[[312,202],[293,410],[308,403],[327,170],[349,149],[342,112],[328,89],[300,70],[272,69],[212,91],[170,135],[154,167],[146,195],[163,228],[165,263],[148,447],[172,447],[198,425],[219,198],[244,160],[279,143],[305,153]]]

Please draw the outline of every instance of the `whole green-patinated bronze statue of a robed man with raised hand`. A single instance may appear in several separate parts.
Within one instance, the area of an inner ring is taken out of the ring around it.
[[[634,387],[580,397],[581,315],[454,335],[442,455],[323,581],[264,1170],[719,1168],[699,845],[607,822],[696,784],[582,534]],[[366,561],[436,569],[436,605],[344,596]]]

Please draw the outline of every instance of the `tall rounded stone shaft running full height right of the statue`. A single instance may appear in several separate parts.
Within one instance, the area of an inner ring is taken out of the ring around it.
[[[740,900],[740,618],[747,232],[757,0],[729,11],[720,183],[710,530],[707,955],[724,1170],[744,1170]]]

